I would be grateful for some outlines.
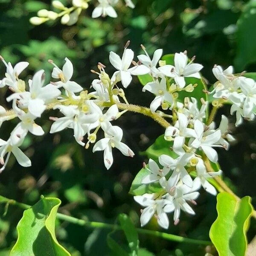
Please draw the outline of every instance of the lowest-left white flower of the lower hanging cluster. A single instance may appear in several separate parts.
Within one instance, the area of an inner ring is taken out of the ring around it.
[[[139,203],[141,206],[145,207],[142,210],[140,216],[140,224],[141,227],[145,226],[148,221],[153,217],[154,213],[157,212],[156,218],[157,223],[160,227],[168,229],[169,227],[169,219],[167,217],[166,212],[163,210],[163,207],[166,205],[167,200],[165,199],[157,199],[154,200],[154,194],[144,194],[144,195],[136,195],[134,196],[134,200]]]

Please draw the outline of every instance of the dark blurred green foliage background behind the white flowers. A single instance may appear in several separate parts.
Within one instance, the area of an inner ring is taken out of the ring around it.
[[[64,3],[64,2],[63,2]],[[50,9],[50,1],[0,0],[0,54],[15,64],[29,61],[30,65],[20,76],[25,79],[39,69],[44,69],[47,82],[52,66],[48,59],[60,67],[68,57],[74,64],[74,80],[89,89],[96,76],[90,69],[96,69],[100,61],[109,73],[113,67],[108,61],[108,52],[122,54],[123,46],[131,40],[131,49],[137,55],[144,44],[148,53],[163,48],[164,54],[188,51],[190,57],[197,56],[197,62],[204,65],[202,74],[209,85],[215,82],[211,70],[214,64],[235,66],[236,73],[243,70],[256,71],[256,1],[242,0],[134,0],[135,9],[126,8],[120,1],[116,6],[118,18],[92,19],[93,6],[80,15],[74,26],[68,27],[60,21],[51,21],[33,26],[29,18],[39,9]],[[5,67],[0,64],[0,77]],[[1,89],[0,104],[10,108],[5,101],[9,91]],[[151,95],[141,92],[141,85],[135,78],[126,90],[129,102],[148,106]],[[250,195],[256,206],[256,124],[244,122],[234,129],[234,117],[229,107],[219,111],[216,119],[226,114],[230,118],[230,130],[237,138],[229,151],[218,150],[219,163],[227,183],[240,196]],[[84,150],[73,139],[72,130],[49,134],[51,122],[45,113],[38,121],[46,134],[43,137],[28,135],[22,145],[31,158],[32,167],[22,168],[11,158],[6,170],[0,175],[0,195],[26,204],[35,204],[40,195],[61,199],[60,212],[78,218],[114,223],[119,213],[130,215],[139,227],[140,207],[128,194],[131,182],[148,161],[143,151],[150,146],[164,130],[151,119],[127,113],[115,122],[124,131],[124,141],[135,152],[134,158],[114,152],[114,163],[110,170],[103,166],[102,152],[93,154],[91,148]],[[7,139],[17,120],[6,122],[1,127],[1,138]],[[101,134],[102,135],[102,134]],[[196,215],[181,215],[180,224],[172,224],[167,232],[190,238],[208,240],[209,227],[216,218],[216,199],[201,191]],[[0,206],[0,256],[9,255],[17,239],[16,225],[22,217],[22,210],[10,206],[3,216]],[[170,217],[172,221],[172,215]],[[147,228],[161,230],[155,220]],[[249,241],[256,232],[256,221],[251,221]],[[74,256],[111,255],[106,243],[109,230],[90,230],[66,222],[58,222],[58,241]],[[119,238],[122,240],[122,237]],[[121,241],[122,242],[122,241]],[[157,239],[140,235],[140,246],[152,255],[183,256],[204,255],[212,248]],[[148,254],[147,254],[148,255]]]

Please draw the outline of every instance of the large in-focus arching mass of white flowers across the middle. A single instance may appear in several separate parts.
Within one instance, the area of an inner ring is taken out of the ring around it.
[[[161,166],[152,159],[148,166],[143,164],[146,172],[144,170],[142,185],[154,183],[158,189],[152,194],[136,195],[134,199],[145,207],[140,218],[142,226],[154,215],[161,227],[168,228],[167,213],[174,212],[175,224],[179,222],[180,210],[195,214],[188,203],[196,204],[195,199],[198,198],[198,189],[201,186],[210,194],[217,194],[209,180],[221,175],[221,170],[213,172],[211,167],[218,161],[215,148],[228,150],[230,142],[235,139],[228,129],[226,116],[221,116],[221,122],[216,127],[215,111],[223,103],[231,103],[231,113],[236,112],[236,125],[241,123],[242,117],[254,119],[256,83],[253,79],[242,76],[243,73],[233,75],[232,67],[223,70],[220,66],[215,66],[213,73],[218,82],[213,85],[212,92],[204,89],[205,95],[212,93],[214,98],[212,112],[208,117],[207,97],[199,101],[192,96],[179,96],[181,91],[190,93],[198,86],[196,83],[188,84],[187,77],[201,79],[199,71],[203,66],[194,63],[195,56],[189,60],[186,51],[175,53],[174,65],[170,65],[160,60],[162,49],[157,49],[153,58],[150,58],[142,45],[145,54],[138,55],[138,61],[134,61],[134,52],[128,46],[129,41],[124,47],[122,58],[115,52],[110,52],[109,61],[116,69],[112,76],[106,73],[105,65],[100,62],[99,71],[91,70],[98,76],[92,81],[91,92],[73,81],[73,64],[68,58],[65,58],[62,68],[49,60],[53,65],[53,81],[44,85],[44,70],[39,70],[32,80],[26,82],[19,75],[29,63],[20,62],[12,67],[11,63],[6,63],[0,56],[6,66],[0,87],[7,86],[12,92],[6,98],[7,102],[12,102],[12,109],[6,110],[0,106],[0,124],[16,117],[19,119],[9,139],[0,140],[0,163],[3,165],[0,172],[6,167],[11,153],[21,166],[31,166],[31,161],[20,150],[20,145],[28,133],[44,135],[43,129],[35,121],[46,110],[57,109],[61,114],[61,117],[49,117],[53,121],[50,133],[72,129],[79,145],[87,149],[93,144],[93,152],[104,151],[104,164],[107,169],[113,164],[114,148],[125,156],[134,156],[131,148],[122,142],[123,132],[114,124],[115,120],[126,111],[143,113],[166,128],[164,138],[171,142],[172,151],[169,155],[158,158]],[[142,75],[151,79],[142,89],[143,92],[154,94],[150,108],[129,104],[124,90],[120,87],[122,85],[127,88],[133,76]],[[159,107],[164,111],[169,110],[170,114],[157,111]],[[163,117],[171,118],[172,122],[167,122]],[[97,140],[100,130],[104,137]],[[195,177],[194,180],[192,177]]]

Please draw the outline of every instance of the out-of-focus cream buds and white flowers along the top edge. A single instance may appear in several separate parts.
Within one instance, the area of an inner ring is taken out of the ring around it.
[[[72,6],[70,8],[64,6],[59,0],[53,0],[52,6],[59,12],[48,11],[47,9],[41,9],[38,11],[36,17],[32,17],[30,22],[33,25],[40,25],[48,20],[56,20],[61,17],[61,23],[68,26],[75,24],[81,14],[81,11],[88,8],[88,2],[90,0],[72,0]],[[97,0],[95,9],[93,10],[92,17],[112,17],[116,18],[117,14],[113,6],[115,6],[119,0]],[[134,4],[131,0],[125,0],[126,6],[134,8]]]

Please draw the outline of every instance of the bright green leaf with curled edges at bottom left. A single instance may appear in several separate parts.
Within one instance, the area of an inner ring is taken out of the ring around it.
[[[70,256],[55,236],[55,218],[61,201],[41,198],[23,213],[17,224],[18,239],[10,256]]]

